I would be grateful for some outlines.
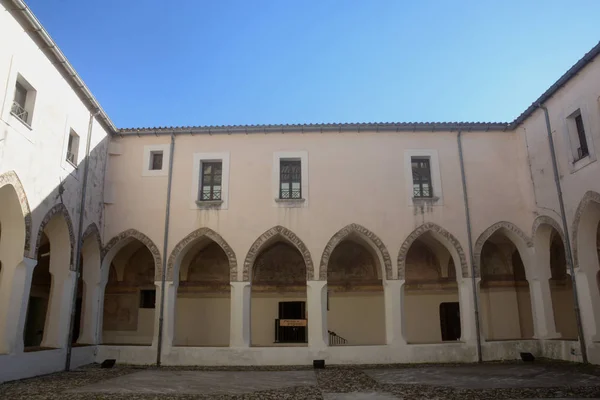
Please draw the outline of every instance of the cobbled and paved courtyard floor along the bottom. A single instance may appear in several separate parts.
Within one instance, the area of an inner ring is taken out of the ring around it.
[[[0,399],[600,399],[600,367],[457,365],[179,368],[89,365],[0,384]]]

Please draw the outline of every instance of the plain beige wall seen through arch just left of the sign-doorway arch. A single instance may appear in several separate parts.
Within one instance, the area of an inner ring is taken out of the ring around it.
[[[175,346],[229,346],[229,295],[180,294],[175,316]]]

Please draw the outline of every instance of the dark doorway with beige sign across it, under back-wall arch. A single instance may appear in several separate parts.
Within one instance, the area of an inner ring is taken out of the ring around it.
[[[275,343],[306,343],[306,302],[279,302],[275,320]]]

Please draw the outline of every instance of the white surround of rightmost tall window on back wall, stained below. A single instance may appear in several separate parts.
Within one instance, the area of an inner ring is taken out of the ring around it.
[[[413,177],[412,177],[412,158],[428,158],[429,168],[431,169],[431,188],[433,197],[414,198],[413,197]],[[410,149],[404,151],[404,181],[406,191],[406,201],[411,207],[419,206],[424,203],[434,206],[444,205],[444,194],[442,191],[442,174],[440,172],[440,162],[438,151],[435,149]]]

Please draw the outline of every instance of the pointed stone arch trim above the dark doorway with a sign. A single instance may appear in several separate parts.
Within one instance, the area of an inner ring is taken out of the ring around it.
[[[312,261],[312,257],[310,256],[310,252],[308,251],[308,248],[294,232],[281,225],[277,225],[269,229],[268,231],[260,235],[258,239],[256,239],[256,241],[252,244],[250,250],[248,250],[246,259],[244,260],[243,280],[245,282],[250,281],[250,277],[252,276],[252,268],[254,266],[254,261],[256,261],[256,257],[258,257],[260,251],[263,249],[265,244],[270,243],[273,239],[277,237],[280,237],[286,242],[290,243],[300,252],[300,254],[302,254],[302,258],[304,259],[304,263],[306,264],[306,280],[312,281],[315,275],[315,267]]]

